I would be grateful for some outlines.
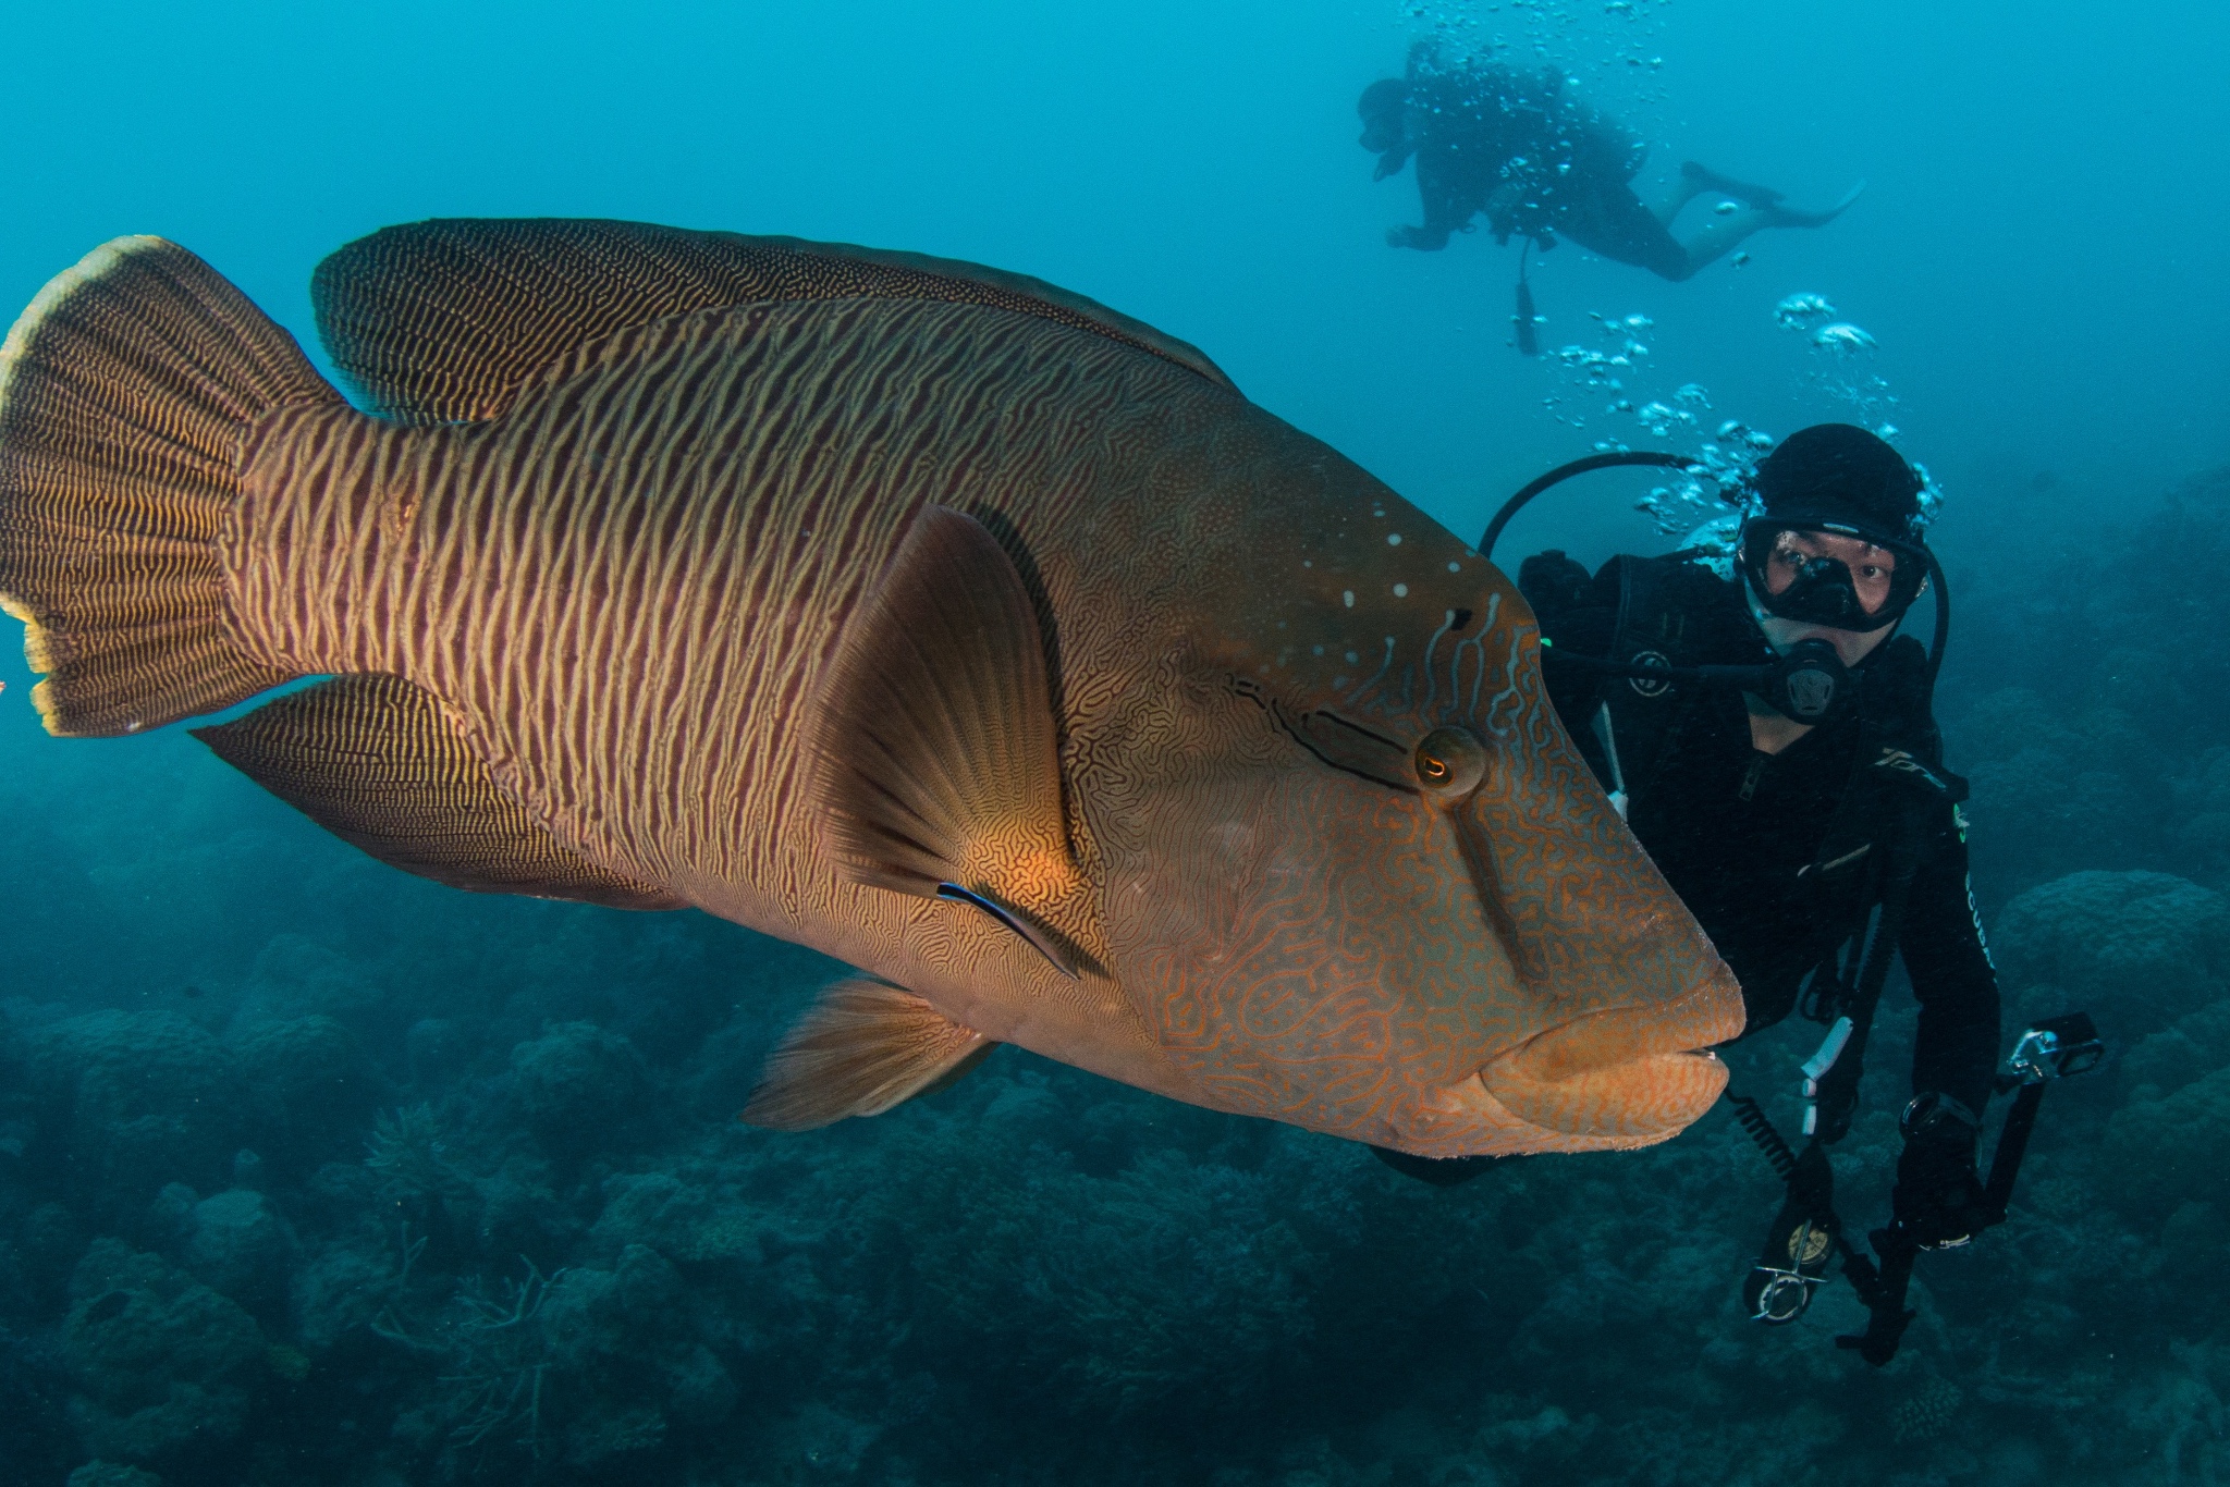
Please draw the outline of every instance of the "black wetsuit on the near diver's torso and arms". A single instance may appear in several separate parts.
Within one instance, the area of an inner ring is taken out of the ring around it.
[[[1543,664],[1550,700],[1597,774],[1606,774],[1606,762],[1594,716],[1606,691],[1628,687],[1628,680],[1559,664],[1554,653],[1610,653],[1619,562],[1675,560],[1612,560],[1586,586],[1543,593],[1534,584],[1528,593],[1543,633],[1554,642]],[[1686,653],[1679,664],[1766,660],[1771,651],[1742,602],[1742,589],[1684,566],[1688,582],[1677,593]],[[1933,765],[1940,756],[1936,727],[1924,702],[1913,704],[1924,691],[1918,687],[1920,664],[1918,642],[1891,640],[1862,669],[1875,673],[1867,678],[1869,718],[1878,720],[1882,698],[1891,707],[1902,700],[1907,716],[1893,727],[1893,742]],[[1855,872],[1862,861],[1820,872],[1822,843],[1853,787],[1867,725],[1855,718],[1822,725],[1780,754],[1764,754],[1751,745],[1748,709],[1735,691],[1675,689],[1659,707],[1666,718],[1655,758],[1635,758],[1635,740],[1621,740],[1621,767],[1632,789],[1630,823],[1672,892],[1726,956],[1748,1010],[1744,1034],[1757,1032],[1788,1017],[1806,974],[1851,936],[1867,907],[1864,878]],[[1855,800],[1853,809],[1873,818],[1855,823],[1858,838],[1893,814],[1869,809],[1864,800]],[[1853,825],[1846,820],[1844,829]],[[1913,1090],[1940,1090],[1980,1110],[1998,1059],[1998,976],[1982,947],[1967,890],[1965,832],[1951,807],[1936,807],[1927,820],[1900,950],[1920,1001]]]

